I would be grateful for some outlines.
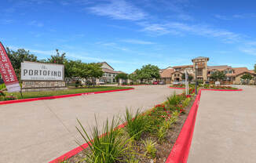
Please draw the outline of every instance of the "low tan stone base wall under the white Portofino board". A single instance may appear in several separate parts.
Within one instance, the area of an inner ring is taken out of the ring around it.
[[[53,91],[68,89],[64,81],[24,81],[22,92]]]

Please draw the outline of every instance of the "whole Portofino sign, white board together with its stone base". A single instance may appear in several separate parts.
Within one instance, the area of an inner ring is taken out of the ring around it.
[[[67,89],[64,65],[53,63],[21,63],[22,92]]]

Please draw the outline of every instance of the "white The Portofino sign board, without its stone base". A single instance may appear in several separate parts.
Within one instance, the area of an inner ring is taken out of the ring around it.
[[[53,63],[21,63],[22,81],[64,81],[64,65]]]

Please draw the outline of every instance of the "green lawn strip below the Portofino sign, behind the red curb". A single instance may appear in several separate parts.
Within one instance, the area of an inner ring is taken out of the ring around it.
[[[68,95],[68,94],[75,94],[75,93],[82,93],[82,92],[100,92],[100,91],[108,91],[108,90],[115,90],[115,89],[131,89],[131,87],[118,87],[118,86],[95,86],[93,88],[81,88],[81,89],[67,89],[67,90],[60,90],[60,91],[46,91],[46,92],[23,92],[24,99],[29,98],[37,98],[37,97],[45,97],[45,96],[57,96],[57,95]],[[20,92],[15,93],[6,93],[6,96],[13,94],[18,99],[22,99],[20,96]]]

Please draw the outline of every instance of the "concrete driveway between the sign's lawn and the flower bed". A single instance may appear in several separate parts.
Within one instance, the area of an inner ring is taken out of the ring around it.
[[[167,85],[134,86],[134,90],[41,100],[0,106],[0,162],[48,162],[77,147],[76,118],[86,129],[106,118],[133,110],[149,109],[174,91]]]

